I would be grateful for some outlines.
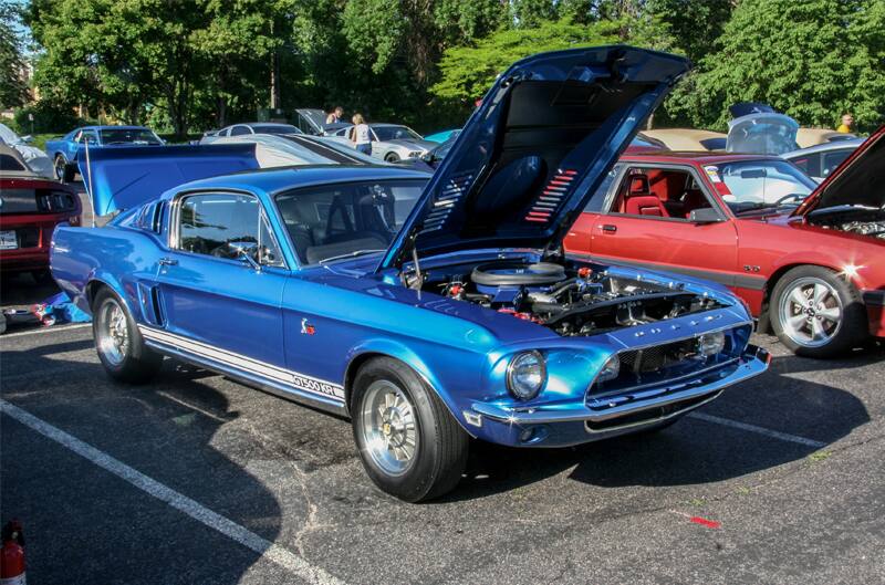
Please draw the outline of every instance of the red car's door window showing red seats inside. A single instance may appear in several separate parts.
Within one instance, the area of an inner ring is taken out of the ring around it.
[[[610,212],[685,220],[691,211],[710,207],[690,171],[631,167],[617,187]]]

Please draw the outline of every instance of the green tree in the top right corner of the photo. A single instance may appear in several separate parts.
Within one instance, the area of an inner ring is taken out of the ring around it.
[[[742,101],[767,102],[803,125],[832,126],[846,109],[875,124],[885,109],[882,11],[882,0],[742,0],[669,107],[720,129],[728,106]]]

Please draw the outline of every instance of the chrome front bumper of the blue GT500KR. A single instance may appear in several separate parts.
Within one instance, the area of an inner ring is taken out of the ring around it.
[[[611,421],[600,432],[624,429],[633,426],[657,424],[668,418],[680,416],[689,410],[712,400],[721,391],[743,380],[750,379],[768,369],[771,355],[768,351],[748,345],[738,363],[710,373],[700,378],[680,380],[670,385],[663,384],[655,388],[624,393],[602,398],[587,397],[586,400],[558,403],[534,407],[501,407],[487,403],[473,403],[471,409],[476,415],[507,422],[509,425],[553,425],[556,422],[579,422],[586,425],[589,432],[595,432],[591,426]],[[707,397],[705,399],[705,397]],[[680,404],[685,407],[680,408]],[[636,422],[617,425],[618,418],[626,418],[650,409],[668,408],[662,416],[650,417]]]

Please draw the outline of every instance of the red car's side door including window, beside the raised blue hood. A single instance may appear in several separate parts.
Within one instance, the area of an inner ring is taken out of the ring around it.
[[[592,221],[594,259],[735,283],[737,230],[694,167],[625,165]]]

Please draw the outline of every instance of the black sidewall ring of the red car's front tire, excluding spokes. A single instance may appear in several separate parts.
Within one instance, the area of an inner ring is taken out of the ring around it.
[[[804,278],[816,278],[827,282],[839,295],[842,303],[842,323],[839,332],[825,345],[808,347],[791,339],[781,323],[780,306],[782,297],[794,283]],[[854,285],[841,278],[836,272],[823,267],[798,267],[784,274],[771,292],[769,304],[769,318],[774,334],[781,343],[796,355],[805,357],[833,357],[848,351],[853,345],[862,344],[867,336],[866,311],[861,302],[861,295]]]

